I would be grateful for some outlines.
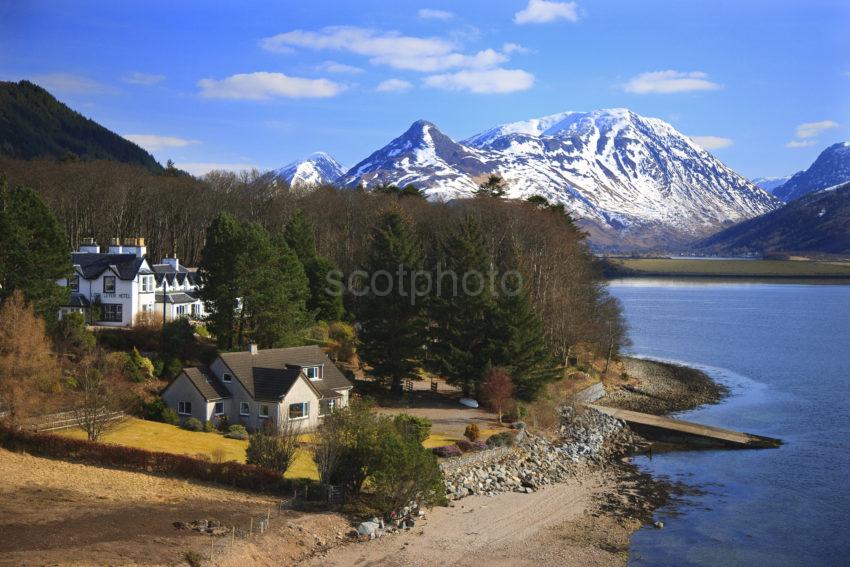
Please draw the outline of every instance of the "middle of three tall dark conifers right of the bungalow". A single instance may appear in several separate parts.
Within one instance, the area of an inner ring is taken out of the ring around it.
[[[492,259],[481,229],[467,217],[443,250],[435,274],[437,297],[429,366],[473,393],[494,356],[497,305],[490,278]],[[464,286],[466,281],[466,286]]]

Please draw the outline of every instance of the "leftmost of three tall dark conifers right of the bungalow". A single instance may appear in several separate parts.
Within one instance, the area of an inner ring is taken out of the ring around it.
[[[366,272],[373,276],[370,288],[358,304],[361,358],[372,366],[373,374],[400,391],[402,381],[414,376],[422,365],[425,343],[424,307],[421,298],[412,298],[412,273],[422,267],[422,246],[411,221],[397,210],[384,213],[372,230]],[[383,292],[392,285],[392,291]],[[414,301],[415,299],[415,301]]]

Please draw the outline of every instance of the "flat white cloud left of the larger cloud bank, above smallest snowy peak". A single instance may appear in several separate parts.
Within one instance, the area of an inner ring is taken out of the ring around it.
[[[201,96],[242,100],[285,98],[327,98],[344,90],[342,85],[328,79],[303,79],[283,73],[241,73],[222,80],[198,81]]]

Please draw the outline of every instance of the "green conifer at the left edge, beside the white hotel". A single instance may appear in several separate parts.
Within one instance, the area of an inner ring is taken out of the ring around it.
[[[41,197],[0,179],[0,301],[21,290],[39,315],[54,320],[71,274],[65,233]]]

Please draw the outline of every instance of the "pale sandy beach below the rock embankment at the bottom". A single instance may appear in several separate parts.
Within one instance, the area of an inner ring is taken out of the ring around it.
[[[622,495],[617,476],[588,471],[533,494],[464,498],[409,532],[337,547],[307,565],[625,565],[640,522],[601,512]]]

